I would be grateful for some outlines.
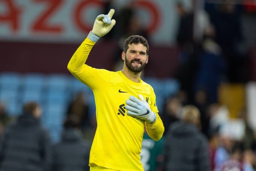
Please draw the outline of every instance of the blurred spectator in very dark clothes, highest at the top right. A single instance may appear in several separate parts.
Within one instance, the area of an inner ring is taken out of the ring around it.
[[[232,0],[224,0],[223,3],[215,5],[213,10],[206,6],[212,23],[216,28],[216,42],[221,46],[223,55],[228,63],[228,78],[231,82],[244,80],[241,68],[244,58],[239,52],[239,46],[243,40],[241,29],[241,6]]]

